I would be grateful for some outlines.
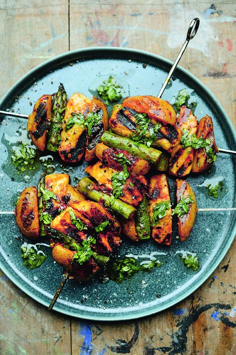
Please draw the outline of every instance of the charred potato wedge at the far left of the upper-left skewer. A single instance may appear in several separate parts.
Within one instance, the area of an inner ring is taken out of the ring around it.
[[[43,95],[35,103],[33,112],[28,117],[27,131],[33,144],[44,151],[47,144],[47,133],[52,119],[52,95]]]

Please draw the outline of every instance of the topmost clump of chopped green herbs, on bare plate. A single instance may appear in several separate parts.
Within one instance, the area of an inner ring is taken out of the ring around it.
[[[121,99],[121,86],[118,84],[113,76],[110,76],[107,81],[103,82],[104,85],[98,87],[98,93],[101,99],[105,101],[106,105],[110,102],[115,102]]]

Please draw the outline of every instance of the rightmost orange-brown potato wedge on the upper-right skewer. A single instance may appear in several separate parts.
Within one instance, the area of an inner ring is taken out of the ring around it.
[[[218,153],[218,148],[215,142],[213,122],[210,116],[205,116],[201,118],[198,123],[197,138],[203,138],[205,140],[210,140],[210,148],[214,156]],[[194,151],[193,167],[192,171],[194,173],[201,173],[208,170],[214,163],[212,158],[209,158],[206,153],[205,148],[196,149]]]

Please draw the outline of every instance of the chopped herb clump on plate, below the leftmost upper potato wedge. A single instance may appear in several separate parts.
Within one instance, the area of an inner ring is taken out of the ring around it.
[[[34,163],[37,157],[35,147],[29,146],[27,143],[21,143],[17,147],[12,147],[11,162],[20,172],[35,169]]]

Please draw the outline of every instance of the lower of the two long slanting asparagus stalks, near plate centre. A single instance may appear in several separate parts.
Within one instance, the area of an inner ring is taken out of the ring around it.
[[[98,202],[100,199],[104,200],[104,203],[107,207],[110,207],[115,212],[119,213],[125,219],[131,217],[131,215],[136,211],[133,206],[121,201],[120,199],[115,198],[114,196],[109,196],[107,193],[97,191],[93,189],[93,181],[89,178],[82,178],[78,183],[78,190],[93,201]]]

